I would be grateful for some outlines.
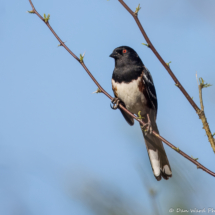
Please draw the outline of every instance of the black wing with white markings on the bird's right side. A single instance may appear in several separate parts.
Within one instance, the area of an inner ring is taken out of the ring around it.
[[[153,83],[152,76],[146,67],[144,67],[144,70],[143,70],[143,82],[144,82],[144,85],[146,86],[146,91],[149,96],[150,104],[152,108],[156,111],[156,115],[157,115],[158,102],[157,102],[155,86]]]

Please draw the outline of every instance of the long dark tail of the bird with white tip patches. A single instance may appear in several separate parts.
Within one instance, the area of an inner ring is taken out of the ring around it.
[[[159,134],[157,124],[153,118],[150,117],[152,129]],[[172,177],[172,171],[162,141],[153,134],[145,135],[144,131],[143,136],[155,178],[158,181],[161,180],[161,177],[166,180],[169,179]]]

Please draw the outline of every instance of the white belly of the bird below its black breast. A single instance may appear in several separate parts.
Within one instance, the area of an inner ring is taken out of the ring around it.
[[[131,83],[117,83],[112,80],[112,86],[115,88],[117,97],[125,103],[126,108],[134,114],[141,111],[141,115],[147,113],[146,98],[140,92],[138,83],[141,78],[133,80]]]

